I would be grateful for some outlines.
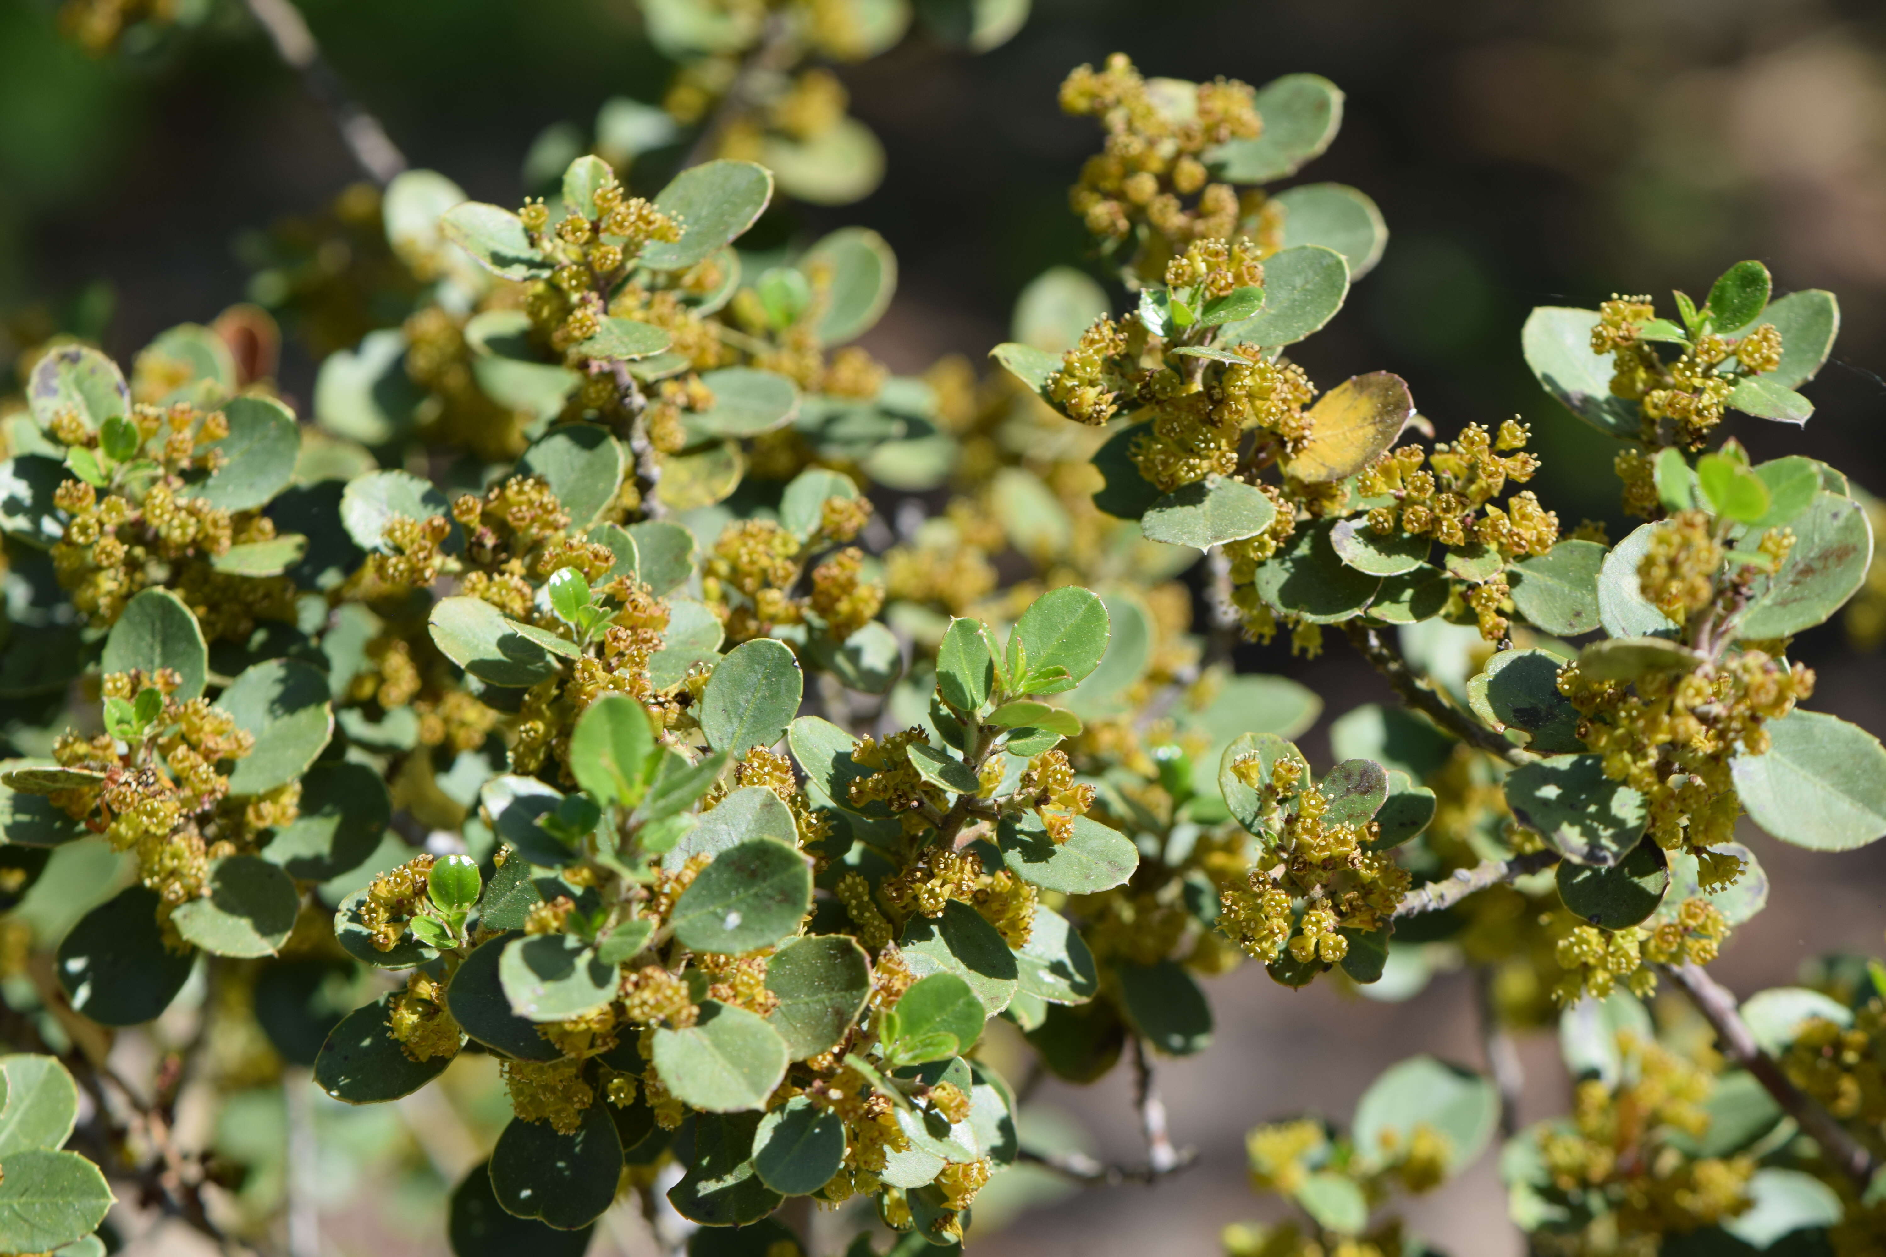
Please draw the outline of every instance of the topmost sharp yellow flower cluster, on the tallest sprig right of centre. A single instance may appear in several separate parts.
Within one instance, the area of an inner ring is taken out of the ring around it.
[[[1147,83],[1124,53],[1098,72],[1081,66],[1062,83],[1062,109],[1100,119],[1107,132],[1105,147],[1081,168],[1069,196],[1101,241],[1122,241],[1143,224],[1179,251],[1237,228],[1237,190],[1211,183],[1201,155],[1226,139],[1262,134],[1256,94],[1235,79],[1199,83],[1194,102],[1179,94],[1166,81]],[[1196,198],[1190,209],[1188,198]]]

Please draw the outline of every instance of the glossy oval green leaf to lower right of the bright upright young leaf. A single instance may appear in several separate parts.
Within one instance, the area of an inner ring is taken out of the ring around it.
[[[741,954],[794,933],[811,901],[805,857],[775,839],[753,839],[702,869],[670,923],[685,948]]]

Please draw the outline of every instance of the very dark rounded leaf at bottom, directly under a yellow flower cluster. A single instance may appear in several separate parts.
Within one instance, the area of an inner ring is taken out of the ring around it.
[[[498,1208],[579,1231],[615,1202],[622,1178],[622,1140],[602,1102],[583,1110],[583,1125],[560,1135],[547,1121],[513,1119],[490,1153],[490,1191]]]

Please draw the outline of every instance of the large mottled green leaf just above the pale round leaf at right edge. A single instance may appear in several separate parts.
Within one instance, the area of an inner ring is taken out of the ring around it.
[[[1743,641],[1792,637],[1826,624],[1865,584],[1873,563],[1873,528],[1865,507],[1841,494],[1820,492],[1795,514],[1794,547],[1780,571],[1758,579],[1754,597],[1735,626]],[[1752,550],[1758,535],[1737,548]]]

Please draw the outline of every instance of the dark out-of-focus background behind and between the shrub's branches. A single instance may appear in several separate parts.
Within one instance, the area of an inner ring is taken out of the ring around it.
[[[671,73],[634,0],[300,8],[415,166],[498,204],[522,196],[526,151],[547,126],[587,128],[609,96],[658,102]],[[860,222],[896,249],[898,300],[866,341],[894,369],[945,352],[981,360],[1005,339],[1015,296],[1035,273],[1092,266],[1066,187],[1096,136],[1062,117],[1054,96],[1071,66],[1117,49],[1149,75],[1262,85],[1309,70],[1348,92],[1341,136],[1303,177],[1369,192],[1390,245],[1335,324],[1301,347],[1318,384],[1398,371],[1443,435],[1524,416],[1547,458],[1539,496],[1567,526],[1601,518],[1616,537],[1614,447],[1533,384],[1518,351],[1526,311],[1596,305],[1613,290],[1660,302],[1671,286],[1701,294],[1728,264],[1762,258],[1777,292],[1835,290],[1845,328],[1807,388],[1818,413],[1805,432],[1745,416],[1726,428],[1758,458],[1812,454],[1886,492],[1886,8],[1877,2],[1035,0],[1022,32],[983,57],[913,34],[839,68],[852,111],[885,141],[883,185],[856,205],[803,209],[800,222],[809,236]],[[0,313],[17,341],[47,324],[87,326],[128,358],[162,328],[207,320],[249,294],[255,232],[321,211],[356,177],[326,115],[240,4],[213,4],[175,38],[94,60],[60,38],[51,4],[0,0]],[[311,381],[313,362],[290,341],[283,392],[306,401]],[[1878,656],[1839,622],[1801,639],[1797,654],[1820,673],[1814,707],[1886,731]],[[1247,648],[1239,667],[1298,677],[1335,714],[1386,697],[1339,643],[1315,661],[1282,645]],[[1305,748],[1322,754],[1320,727]],[[1777,891],[1716,969],[1728,984],[1784,984],[1822,952],[1880,950],[1886,854],[1811,856],[1745,837]],[[1247,1127],[1303,1110],[1347,1119],[1375,1072],[1413,1052],[1481,1065],[1465,974],[1439,976],[1409,1004],[1345,997],[1333,984],[1294,993],[1254,967],[1211,993],[1215,1046],[1162,1070],[1173,1136],[1199,1148],[1199,1165],[1152,1189],[1060,1200],[1041,1191],[994,1234],[1000,1210],[979,1204],[979,1253],[1216,1251],[1226,1223],[1266,1214],[1243,1182]],[[1520,1050],[1522,1119],[1560,1112],[1565,1078],[1550,1037]],[[1128,1091],[1124,1070],[1088,1089],[1047,1084],[1041,1119],[1058,1110],[1098,1153],[1135,1161]],[[224,1121],[266,1142],[273,1114]],[[453,1138],[475,1142],[477,1129],[436,1112],[373,1121],[336,1125],[323,1148],[324,1251],[443,1251],[438,1191],[375,1184],[432,1182],[432,1170],[451,1168],[441,1159],[460,1155]],[[419,1168],[362,1172],[372,1157],[398,1155]],[[1458,1257],[1520,1251],[1492,1157],[1409,1219]],[[592,1251],[649,1251],[637,1227],[605,1227]],[[155,1244],[189,1248],[181,1236]]]

